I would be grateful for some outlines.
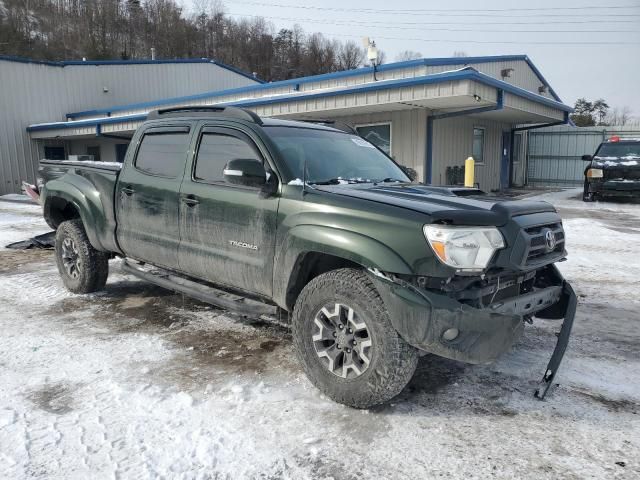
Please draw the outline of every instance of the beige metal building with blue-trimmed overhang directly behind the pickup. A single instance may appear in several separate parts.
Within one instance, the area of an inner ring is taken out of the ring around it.
[[[474,156],[476,181],[484,190],[518,184],[524,170],[521,132],[566,123],[571,111],[528,57],[512,55],[411,60],[375,71],[365,67],[71,110],[33,122],[28,130],[40,156],[57,147],[65,155],[93,152],[118,160],[124,147],[113,144],[124,145],[150,110],[214,104],[262,116],[346,121],[429,183],[455,182],[464,160]]]

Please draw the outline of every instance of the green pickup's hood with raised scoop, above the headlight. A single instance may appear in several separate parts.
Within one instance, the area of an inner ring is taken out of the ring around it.
[[[393,205],[455,225],[505,225],[512,217],[555,212],[547,202],[487,195],[481,190],[428,185],[322,185],[321,192]]]

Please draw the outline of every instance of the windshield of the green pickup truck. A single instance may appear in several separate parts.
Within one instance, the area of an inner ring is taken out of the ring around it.
[[[411,181],[384,153],[356,135],[299,127],[265,126],[265,130],[291,179],[302,179],[306,165],[307,183]]]

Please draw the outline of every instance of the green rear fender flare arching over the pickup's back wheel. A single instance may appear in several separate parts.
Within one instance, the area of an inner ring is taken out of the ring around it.
[[[96,250],[109,251],[102,242],[98,235],[98,229],[106,228],[105,218],[103,213],[103,205],[100,201],[100,195],[95,192],[95,195],[85,195],[81,188],[75,185],[74,181],[69,181],[68,176],[66,182],[60,182],[58,180],[50,180],[46,184],[46,197],[43,206],[44,217],[47,223],[51,227],[58,227],[61,222],[56,222],[52,214],[52,206],[56,199],[62,199],[76,209],[84,225],[84,229],[87,232],[89,242]],[[91,192],[95,190],[90,184],[87,188]]]

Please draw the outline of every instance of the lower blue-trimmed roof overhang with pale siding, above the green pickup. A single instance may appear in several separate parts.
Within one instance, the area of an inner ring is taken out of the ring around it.
[[[486,115],[518,124],[561,120],[572,108],[466,67],[460,70],[369,82],[286,94],[272,94],[225,101],[224,94],[179,102],[180,105],[233,105],[268,117],[353,115],[425,108],[437,112],[465,110],[497,104],[504,93],[504,108]],[[228,97],[227,97],[228,98]],[[167,105],[174,106],[174,105]],[[146,119],[150,109],[121,116],[35,124],[28,127],[32,138],[57,138],[130,132]]]

